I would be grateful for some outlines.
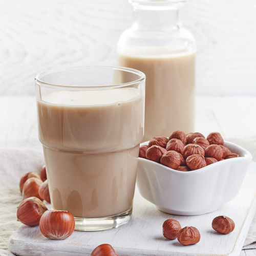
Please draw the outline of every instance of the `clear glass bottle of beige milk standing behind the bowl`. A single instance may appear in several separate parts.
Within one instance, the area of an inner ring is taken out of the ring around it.
[[[194,36],[182,28],[184,0],[130,0],[134,22],[117,44],[118,66],[146,75],[144,141],[194,132]]]

